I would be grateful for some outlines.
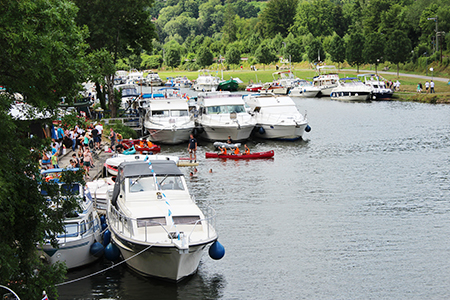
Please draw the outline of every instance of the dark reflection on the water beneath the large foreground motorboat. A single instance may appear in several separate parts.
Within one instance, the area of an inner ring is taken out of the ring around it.
[[[204,259],[210,259],[205,256]],[[105,269],[111,265],[100,260],[87,268],[71,271],[68,280],[74,280]],[[122,264],[86,280],[61,286],[61,299],[219,299],[226,286],[220,273],[209,273],[200,263],[198,272],[180,283],[166,282],[140,276]],[[90,295],[90,296],[88,296]]]

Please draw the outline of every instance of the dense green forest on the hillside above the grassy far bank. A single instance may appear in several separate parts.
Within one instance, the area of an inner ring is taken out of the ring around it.
[[[152,52],[120,60],[119,68],[195,70],[241,57],[249,65],[284,57],[358,67],[438,61],[441,52],[449,63],[446,0],[156,0],[150,14],[158,35]]]

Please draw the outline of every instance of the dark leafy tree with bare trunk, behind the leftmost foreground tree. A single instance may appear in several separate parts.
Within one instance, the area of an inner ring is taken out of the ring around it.
[[[156,38],[155,26],[151,22],[152,0],[74,0],[79,8],[78,24],[87,25],[90,49],[106,49],[113,63],[142,50],[152,51],[152,40]],[[101,22],[99,21],[101,16]],[[117,115],[114,94],[114,73],[104,74],[108,90],[111,116]]]

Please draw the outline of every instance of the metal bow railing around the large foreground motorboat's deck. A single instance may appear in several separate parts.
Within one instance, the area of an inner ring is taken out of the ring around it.
[[[144,227],[144,241],[149,241],[149,229],[154,229],[155,227],[162,229],[161,232],[165,232],[167,236],[170,238],[171,242],[173,242],[174,239],[177,239],[178,236],[175,234],[175,232],[169,231],[176,229],[177,226],[193,226],[189,234],[187,235],[188,241],[191,240],[192,234],[196,231],[196,229],[200,226],[205,225],[206,227],[206,234],[207,238],[213,237],[215,234],[215,231],[212,230],[212,228],[215,228],[216,225],[216,211],[211,207],[206,207],[203,209],[204,212],[204,218],[198,219],[195,222],[187,222],[187,223],[177,223],[176,225],[168,226],[167,224],[163,224],[158,221],[153,220],[142,220],[142,219],[136,219],[136,218],[130,218],[122,214],[120,211],[118,211],[114,206],[111,206],[110,214],[108,215],[108,219],[110,222],[110,226],[114,226],[121,234],[129,238],[130,240],[135,241],[142,241],[142,239],[135,238],[134,235],[134,229],[133,229],[133,223],[136,224],[139,228]],[[139,224],[139,225],[138,225]],[[155,233],[154,230],[152,230],[152,233]]]

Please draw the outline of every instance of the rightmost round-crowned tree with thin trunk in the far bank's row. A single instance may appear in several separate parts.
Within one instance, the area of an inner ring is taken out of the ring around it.
[[[406,62],[411,55],[411,41],[405,32],[395,30],[388,36],[386,43],[386,60],[397,65],[397,77],[399,64]]]

